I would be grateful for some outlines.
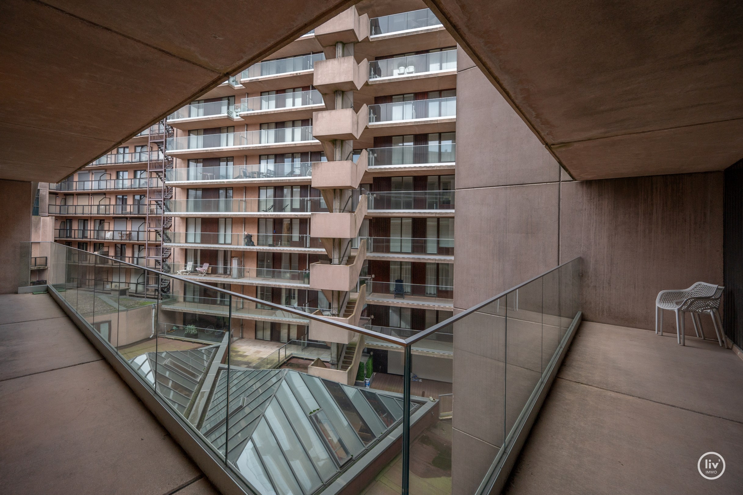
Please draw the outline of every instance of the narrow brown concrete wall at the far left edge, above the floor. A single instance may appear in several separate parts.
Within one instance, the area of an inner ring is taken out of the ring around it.
[[[32,183],[0,181],[0,253],[4,268],[0,271],[0,294],[15,294],[21,275],[21,242],[31,240]]]

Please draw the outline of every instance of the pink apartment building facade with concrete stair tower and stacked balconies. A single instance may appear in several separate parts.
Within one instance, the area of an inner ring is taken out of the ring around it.
[[[455,42],[423,2],[351,8],[167,118],[166,271],[400,337],[445,320],[455,120]],[[271,313],[233,330],[328,343],[334,369],[356,349],[350,332]],[[402,374],[402,352],[365,344],[375,370]],[[451,381],[451,341],[435,347],[416,372]]]

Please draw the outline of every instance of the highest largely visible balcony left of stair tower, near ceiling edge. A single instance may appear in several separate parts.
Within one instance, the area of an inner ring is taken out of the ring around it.
[[[314,63],[324,59],[325,54],[320,53],[265,60],[250,65],[237,76],[237,81],[248,93],[273,91],[279,78],[282,80],[279,87],[309,86],[312,84]]]

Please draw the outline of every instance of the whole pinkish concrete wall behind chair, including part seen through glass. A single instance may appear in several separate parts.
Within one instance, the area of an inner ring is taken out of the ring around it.
[[[572,181],[461,50],[457,100],[455,308],[576,256],[588,321],[651,330],[658,291],[722,283],[722,172]],[[509,326],[506,350],[490,320],[454,332],[453,494],[476,490],[540,374],[510,365],[545,332]]]

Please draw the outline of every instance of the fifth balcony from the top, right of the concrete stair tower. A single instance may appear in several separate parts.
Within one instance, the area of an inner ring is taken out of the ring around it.
[[[424,216],[454,216],[454,191],[374,191],[369,196],[369,214],[395,216],[400,211]],[[397,213],[395,213],[397,212]]]

